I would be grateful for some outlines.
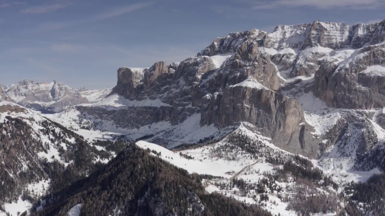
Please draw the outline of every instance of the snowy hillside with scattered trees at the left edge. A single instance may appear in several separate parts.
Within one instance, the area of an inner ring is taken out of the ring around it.
[[[8,101],[0,101],[0,131],[0,215],[28,212],[33,201],[49,192],[52,181],[63,179],[60,174],[68,167],[83,167],[71,175],[84,178],[95,163],[113,156],[39,111]]]

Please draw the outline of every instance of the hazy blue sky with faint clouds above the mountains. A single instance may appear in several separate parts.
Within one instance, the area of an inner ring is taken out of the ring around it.
[[[371,23],[385,0],[0,0],[0,82],[113,87],[121,66],[195,56],[230,32]]]

